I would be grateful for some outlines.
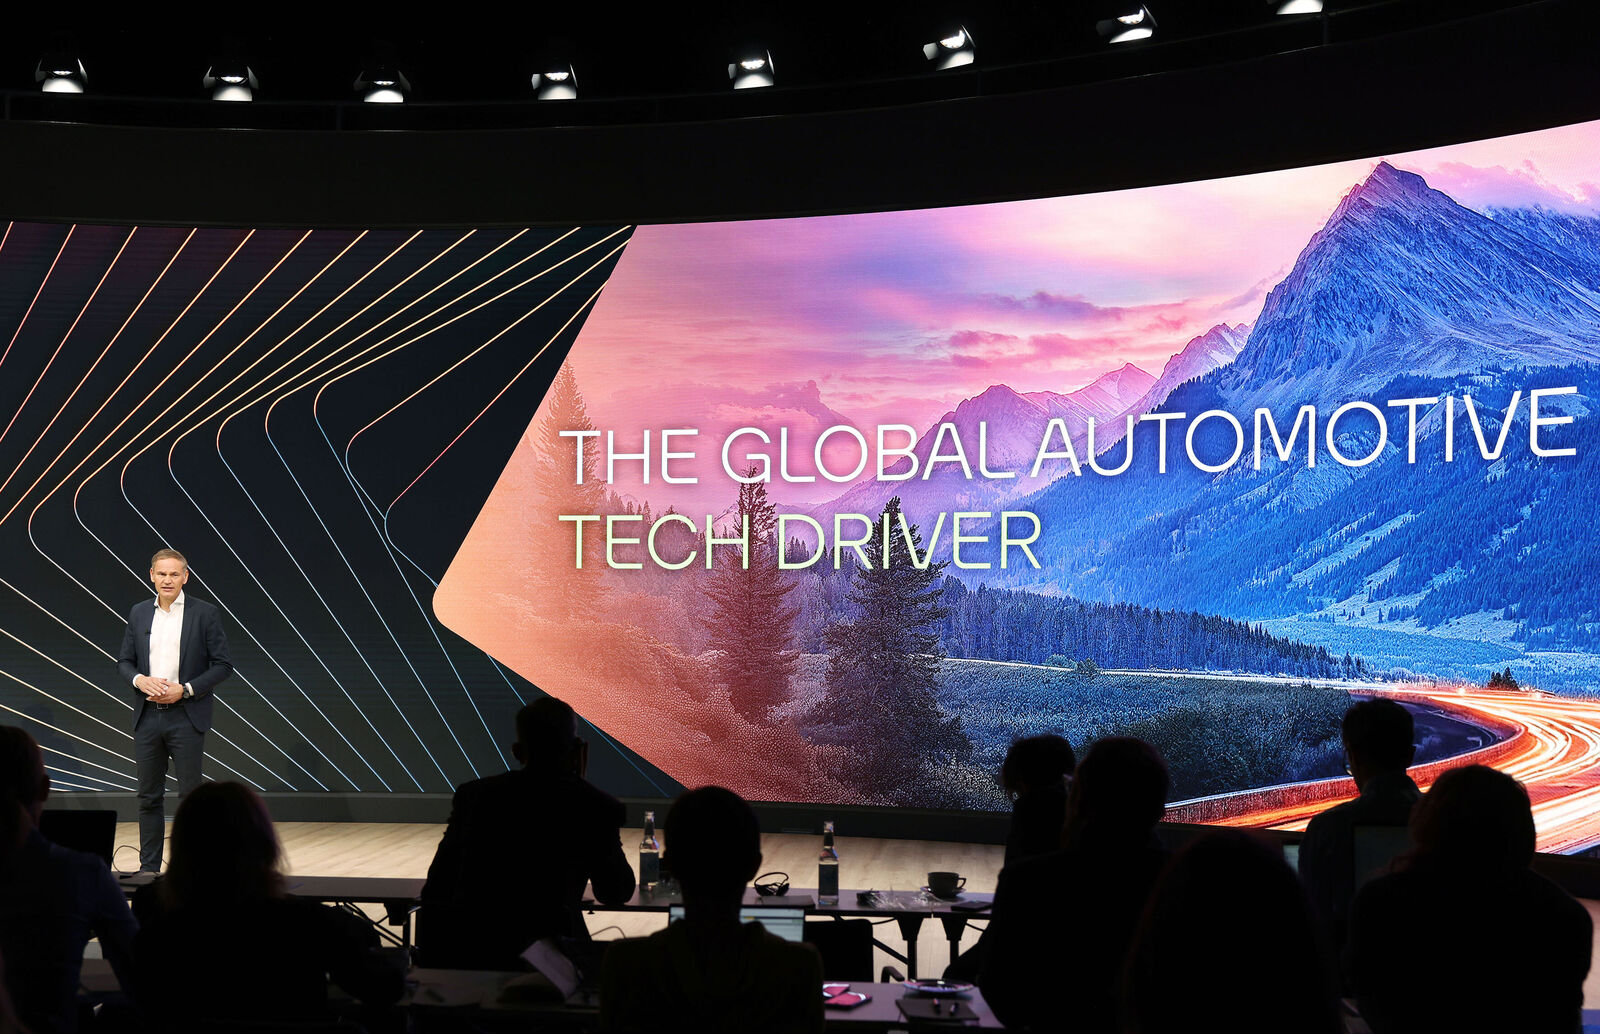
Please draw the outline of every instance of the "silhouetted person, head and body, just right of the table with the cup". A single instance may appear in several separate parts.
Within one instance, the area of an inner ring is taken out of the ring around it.
[[[1002,869],[979,978],[1002,1023],[1117,1029],[1122,962],[1166,863],[1166,788],[1155,747],[1101,739],[1072,778],[1062,850]]]

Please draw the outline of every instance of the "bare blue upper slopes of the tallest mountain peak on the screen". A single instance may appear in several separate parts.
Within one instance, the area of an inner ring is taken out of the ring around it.
[[[1234,403],[1368,395],[1400,371],[1600,359],[1594,259],[1381,162],[1267,295],[1219,387]]]

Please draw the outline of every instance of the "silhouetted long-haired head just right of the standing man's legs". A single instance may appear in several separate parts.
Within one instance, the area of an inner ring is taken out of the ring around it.
[[[267,805],[242,783],[202,783],[173,818],[163,890],[173,904],[213,906],[283,893],[283,850]]]

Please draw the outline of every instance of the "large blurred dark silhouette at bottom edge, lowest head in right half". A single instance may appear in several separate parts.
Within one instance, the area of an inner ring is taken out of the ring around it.
[[[1238,1034],[1344,1029],[1306,890],[1272,842],[1237,829],[1190,840],[1162,874],[1123,983],[1125,1034],[1211,1020]]]

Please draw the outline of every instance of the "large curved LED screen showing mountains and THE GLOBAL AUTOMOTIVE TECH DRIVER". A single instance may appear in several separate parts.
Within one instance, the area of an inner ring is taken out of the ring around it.
[[[424,234],[13,224],[0,704],[130,789],[189,554],[208,775],[446,791],[534,687],[622,794],[1003,808],[1126,733],[1293,828],[1389,695],[1600,844],[1600,125],[931,211]]]

